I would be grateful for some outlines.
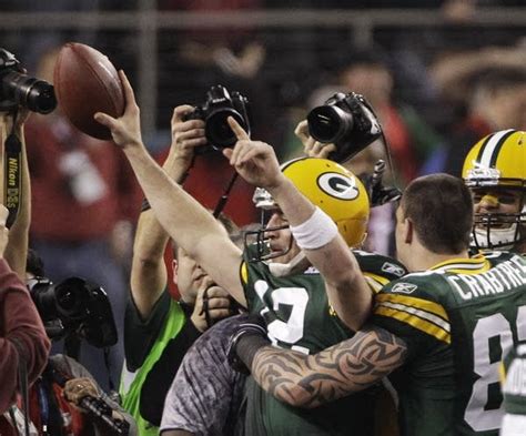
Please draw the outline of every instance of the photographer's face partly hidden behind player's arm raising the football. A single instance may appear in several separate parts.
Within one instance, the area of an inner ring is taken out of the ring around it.
[[[218,221],[223,225],[225,233],[230,237],[236,237],[237,226],[224,214],[220,214]],[[180,246],[172,241],[173,250],[173,281],[178,285],[181,298],[193,304],[198,295],[198,290],[202,282],[206,280],[208,274],[198,263]],[[220,255],[220,254],[219,254]]]

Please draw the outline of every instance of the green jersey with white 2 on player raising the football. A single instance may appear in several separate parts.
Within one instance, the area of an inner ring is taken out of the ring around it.
[[[406,273],[392,258],[365,252],[355,255],[373,290]],[[245,261],[242,280],[249,311],[265,318],[274,345],[314,354],[352,337],[353,332],[330,306],[323,277],[314,267],[274,277],[265,263]],[[251,436],[371,435],[378,389],[371,388],[323,407],[300,409],[279,402],[249,381],[245,432]]]

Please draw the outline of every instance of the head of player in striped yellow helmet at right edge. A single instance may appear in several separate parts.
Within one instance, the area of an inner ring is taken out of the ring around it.
[[[478,141],[462,172],[473,193],[472,246],[520,250],[526,241],[526,132],[504,130]]]

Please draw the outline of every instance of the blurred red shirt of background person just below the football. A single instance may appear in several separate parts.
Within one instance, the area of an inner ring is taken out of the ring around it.
[[[31,174],[31,234],[84,242],[107,237],[120,220],[136,221],[142,193],[122,151],[57,115],[26,125]]]

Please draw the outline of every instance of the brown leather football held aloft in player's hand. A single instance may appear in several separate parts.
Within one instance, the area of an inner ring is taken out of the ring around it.
[[[110,140],[110,130],[93,120],[97,112],[115,118],[124,112],[121,80],[108,57],[89,45],[68,42],[53,73],[59,108],[69,121],[90,136]]]

